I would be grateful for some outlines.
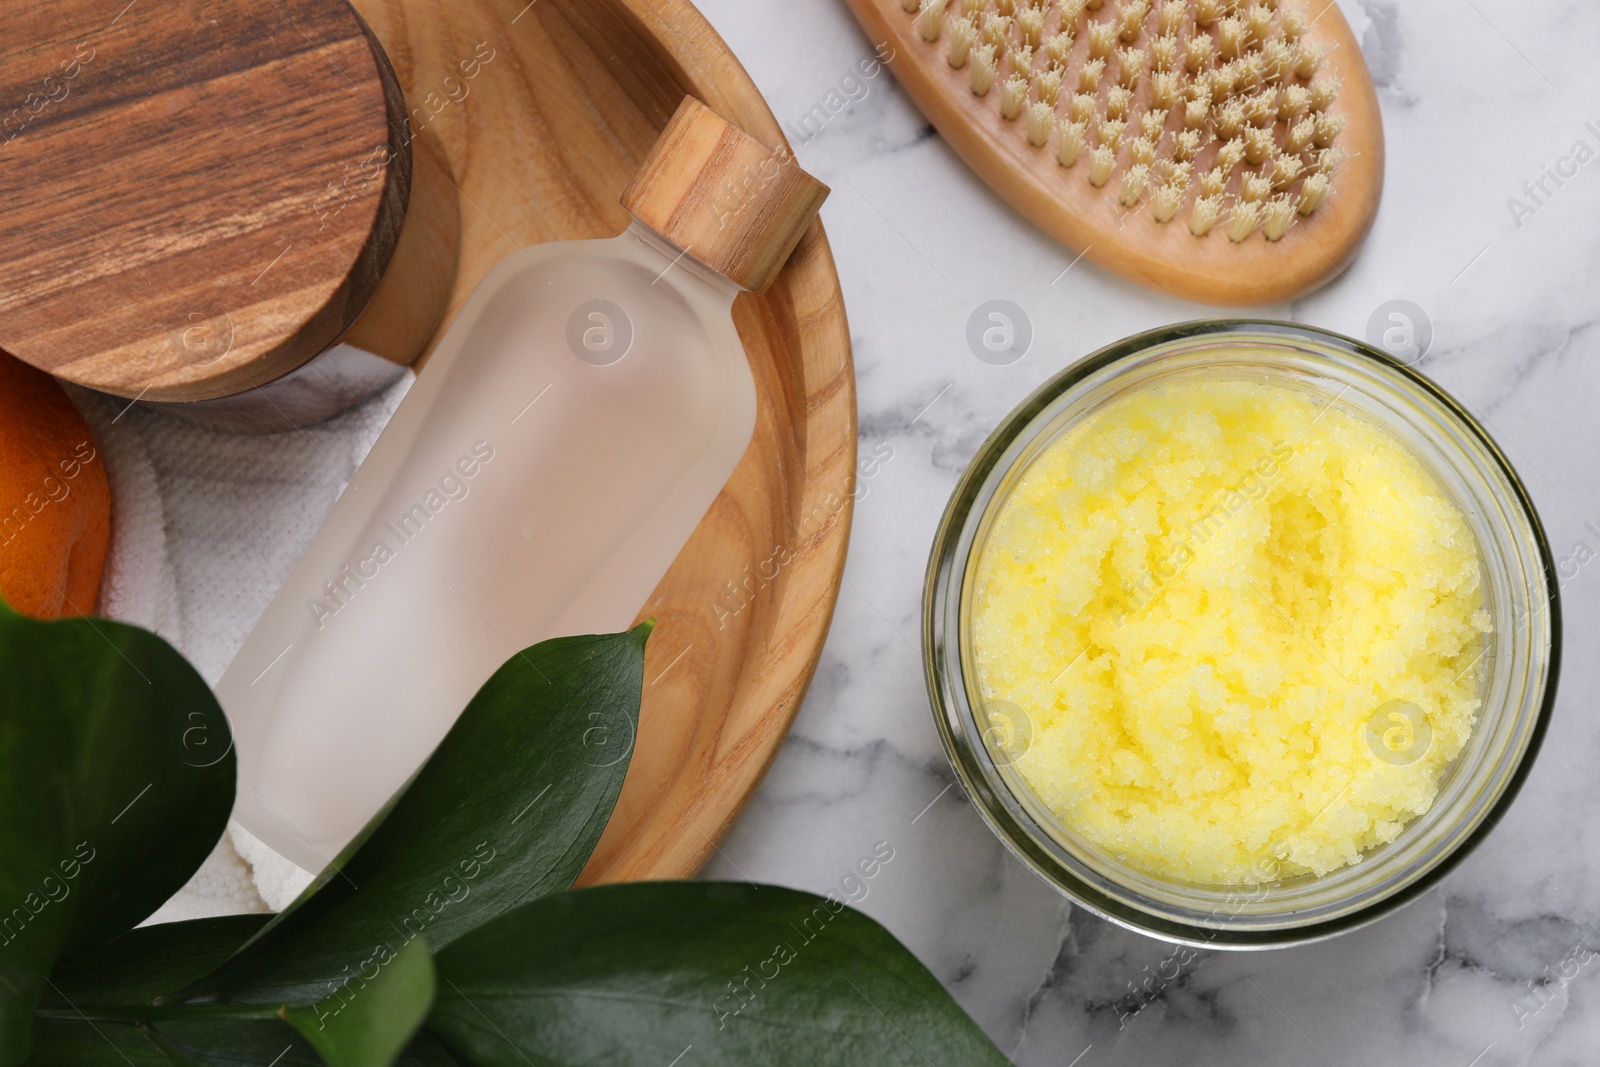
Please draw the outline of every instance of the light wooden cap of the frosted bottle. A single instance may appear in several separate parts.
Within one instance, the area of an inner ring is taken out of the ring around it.
[[[694,259],[760,293],[811,226],[827,186],[693,96],[661,131],[622,206]]]

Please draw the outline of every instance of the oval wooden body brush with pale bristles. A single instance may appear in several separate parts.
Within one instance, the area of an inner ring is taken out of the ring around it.
[[[1384,136],[1333,0],[850,0],[946,141],[1152,288],[1270,304],[1371,229]]]

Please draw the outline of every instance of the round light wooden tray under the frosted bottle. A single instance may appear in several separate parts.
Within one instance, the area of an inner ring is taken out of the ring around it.
[[[461,262],[435,341],[515,250],[619,234],[618,197],[685,93],[784,144],[749,75],[685,0],[354,3],[461,195]],[[739,298],[734,318],[755,373],[755,437],[640,613],[656,630],[638,737],[582,883],[699,869],[778,753],[838,597],[856,389],[821,222],[766,293]]]

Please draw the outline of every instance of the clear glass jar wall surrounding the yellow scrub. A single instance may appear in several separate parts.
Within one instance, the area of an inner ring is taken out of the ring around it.
[[[1325,875],[1259,886],[1178,881],[1136,869],[1050,811],[1014,768],[1014,737],[982,707],[971,608],[986,537],[1035,458],[1131,390],[1173,381],[1291,386],[1387,427],[1450,493],[1478,541],[1482,709],[1438,797],[1400,835]],[[1526,490],[1467,411],[1414,370],[1347,338],[1294,323],[1222,320],[1120,341],[1056,374],[984,442],[946,509],[923,593],[923,661],[957,776],[1024,864],[1106,920],[1214,949],[1299,944],[1366,925],[1435,885],[1504,817],[1555,701],[1555,566]]]

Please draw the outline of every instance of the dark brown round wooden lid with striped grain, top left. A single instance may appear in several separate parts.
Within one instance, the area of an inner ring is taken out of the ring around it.
[[[3,26],[0,349],[187,403],[298,371],[373,304],[413,158],[347,0],[59,0]]]

